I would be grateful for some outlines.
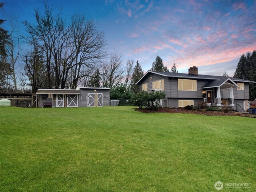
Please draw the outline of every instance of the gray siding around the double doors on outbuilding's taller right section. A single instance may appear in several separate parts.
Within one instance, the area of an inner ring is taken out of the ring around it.
[[[96,90],[96,91],[94,91]],[[86,89],[80,88],[80,107],[87,107],[88,93],[102,93],[103,106],[110,105],[110,90],[109,89]],[[81,100],[81,97],[85,96],[86,100]]]

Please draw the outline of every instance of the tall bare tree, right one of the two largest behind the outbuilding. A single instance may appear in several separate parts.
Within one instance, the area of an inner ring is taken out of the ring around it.
[[[88,69],[99,68],[100,61],[106,57],[104,46],[106,41],[104,33],[96,28],[93,20],[86,19],[84,15],[75,14],[72,16],[70,26],[72,46],[72,85],[76,88],[78,81],[88,74],[82,73],[82,67]]]

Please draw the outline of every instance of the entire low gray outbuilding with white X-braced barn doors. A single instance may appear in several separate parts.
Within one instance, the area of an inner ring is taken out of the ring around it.
[[[101,107],[110,104],[110,88],[38,89],[36,107]]]

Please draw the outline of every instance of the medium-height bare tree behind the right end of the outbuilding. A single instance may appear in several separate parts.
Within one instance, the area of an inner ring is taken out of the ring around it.
[[[103,75],[106,77],[104,87],[115,88],[121,84],[125,77],[123,62],[123,55],[114,50],[103,68]]]

